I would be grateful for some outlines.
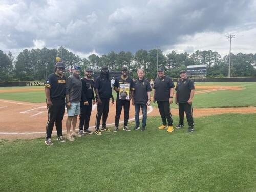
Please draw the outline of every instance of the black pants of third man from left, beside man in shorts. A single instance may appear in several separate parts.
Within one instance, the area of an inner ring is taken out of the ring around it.
[[[80,102],[80,108],[81,108],[81,113],[80,113],[80,119],[79,119],[79,130],[88,130],[89,128],[89,122],[90,122],[90,117],[92,113],[92,105],[93,105],[93,100],[88,99],[87,100],[89,105],[84,105],[83,101]]]

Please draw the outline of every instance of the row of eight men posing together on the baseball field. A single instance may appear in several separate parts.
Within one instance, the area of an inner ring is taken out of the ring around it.
[[[144,78],[145,72],[138,70],[138,78],[133,81],[128,77],[127,67],[122,68],[122,75],[114,81],[110,80],[110,73],[107,66],[103,66],[100,75],[93,81],[91,79],[93,70],[86,69],[85,77],[80,78],[81,68],[74,66],[73,73],[67,79],[64,75],[65,65],[57,62],[55,65],[55,73],[50,74],[45,83],[46,104],[48,109],[48,122],[46,126],[45,144],[53,145],[51,140],[52,130],[55,123],[57,130],[57,140],[65,142],[66,139],[62,135],[62,120],[65,113],[65,105],[67,107],[67,139],[74,141],[76,137],[84,134],[92,134],[89,130],[89,122],[91,117],[92,105],[97,103],[97,114],[95,122],[95,134],[102,135],[102,131],[111,132],[106,127],[108,119],[110,99],[114,104],[112,89],[117,92],[116,98],[116,115],[115,129],[119,130],[119,120],[122,108],[124,110],[124,131],[131,131],[128,127],[130,101],[135,106],[135,127],[134,130],[140,129],[139,112],[142,111],[142,129],[146,129],[147,107],[151,104],[151,83]],[[194,131],[192,99],[195,92],[194,82],[187,78],[186,71],[180,72],[181,79],[176,86],[176,104],[179,105],[179,124],[177,129],[184,127],[184,112],[186,113],[189,129],[188,132]],[[114,83],[114,84],[113,84]],[[167,132],[173,132],[173,120],[170,113],[170,104],[173,103],[174,95],[173,80],[164,75],[164,69],[158,69],[158,77],[154,81],[153,86],[153,102],[157,101],[159,112],[162,119],[162,125],[158,129],[167,129]],[[96,98],[94,96],[96,93]],[[79,118],[79,131],[75,132],[77,117]],[[100,120],[102,117],[102,127],[100,129]],[[167,119],[167,121],[166,121]],[[72,125],[72,131],[71,131]]]

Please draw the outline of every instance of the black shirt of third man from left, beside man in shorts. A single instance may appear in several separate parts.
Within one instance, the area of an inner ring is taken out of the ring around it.
[[[94,81],[92,79],[87,80],[86,78],[82,79],[82,102],[86,102],[88,99],[95,99],[94,93]]]

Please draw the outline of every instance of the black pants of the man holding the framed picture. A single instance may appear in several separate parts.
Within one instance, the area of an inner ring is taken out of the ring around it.
[[[124,111],[124,124],[123,126],[128,125],[128,119],[129,119],[129,109],[130,109],[130,101],[117,99],[116,100],[116,117],[115,117],[115,126],[118,127],[120,115],[122,112],[122,108]]]

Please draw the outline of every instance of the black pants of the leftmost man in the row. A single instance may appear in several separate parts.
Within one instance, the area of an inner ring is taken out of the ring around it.
[[[51,99],[52,106],[47,108],[48,121],[46,124],[46,138],[51,138],[52,130],[55,123],[57,135],[62,135],[62,120],[65,112],[65,98]]]

